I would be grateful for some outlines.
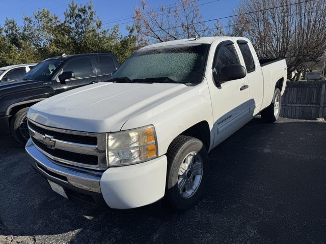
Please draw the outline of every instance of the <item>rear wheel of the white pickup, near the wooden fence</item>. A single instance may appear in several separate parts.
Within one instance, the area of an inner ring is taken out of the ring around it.
[[[279,118],[281,112],[281,104],[281,92],[279,88],[276,88],[274,91],[273,100],[271,100],[271,104],[260,112],[264,123],[274,123]]]

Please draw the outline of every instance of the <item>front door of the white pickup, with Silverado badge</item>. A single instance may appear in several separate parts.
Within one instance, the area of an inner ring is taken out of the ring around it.
[[[219,75],[228,65],[242,65],[234,43],[221,42],[215,49],[213,70]],[[249,85],[247,77],[215,84],[212,75],[206,77],[211,96],[214,118],[214,146],[221,143],[236,130],[246,124],[250,118]]]

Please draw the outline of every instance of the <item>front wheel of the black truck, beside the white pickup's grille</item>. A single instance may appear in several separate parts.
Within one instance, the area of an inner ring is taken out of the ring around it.
[[[11,135],[21,144],[26,144],[30,135],[27,128],[27,112],[29,107],[20,109],[10,121]]]

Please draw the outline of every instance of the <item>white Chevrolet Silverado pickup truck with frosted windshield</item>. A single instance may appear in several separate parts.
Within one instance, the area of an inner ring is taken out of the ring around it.
[[[108,80],[33,105],[32,166],[64,197],[134,208],[201,197],[208,152],[260,112],[273,123],[285,59],[259,60],[241,37],[153,44]]]

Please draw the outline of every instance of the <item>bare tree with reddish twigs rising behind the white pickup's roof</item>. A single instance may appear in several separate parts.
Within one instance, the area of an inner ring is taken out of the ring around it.
[[[204,36],[210,31],[202,21],[198,0],[179,0],[174,6],[150,9],[142,0],[141,8],[135,7],[133,19],[140,34],[140,41],[159,42]]]

